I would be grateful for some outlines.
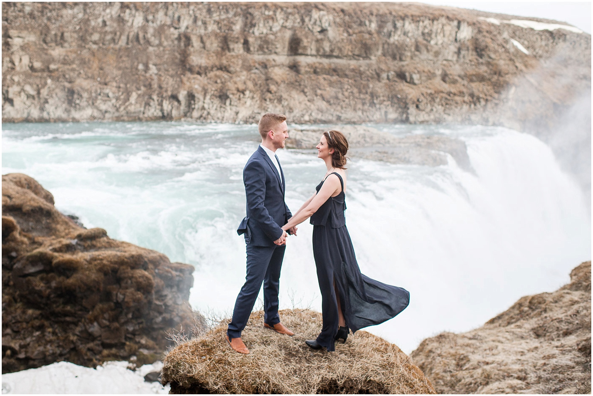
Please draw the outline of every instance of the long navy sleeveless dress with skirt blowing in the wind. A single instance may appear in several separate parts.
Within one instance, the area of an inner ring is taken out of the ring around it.
[[[403,311],[410,301],[406,289],[385,285],[361,274],[356,263],[350,235],[346,229],[344,181],[342,191],[327,201],[311,216],[313,224],[313,256],[321,290],[323,328],[317,342],[328,351],[334,350],[338,330],[336,289],[346,326],[354,333],[363,327],[380,324]],[[317,192],[325,180],[315,187]]]

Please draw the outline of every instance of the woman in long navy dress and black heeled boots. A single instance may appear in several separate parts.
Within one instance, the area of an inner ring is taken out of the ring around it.
[[[317,157],[326,162],[327,173],[301,209],[282,229],[290,229],[307,218],[313,224],[313,256],[321,290],[323,328],[313,349],[334,350],[336,340],[346,341],[349,330],[380,324],[406,308],[410,293],[361,274],[346,228],[346,152],[348,142],[337,130],[324,132]]]

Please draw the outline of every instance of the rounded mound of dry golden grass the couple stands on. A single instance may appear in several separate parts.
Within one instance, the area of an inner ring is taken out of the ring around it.
[[[410,357],[380,337],[358,331],[335,352],[312,350],[304,341],[317,337],[321,314],[285,309],[280,318],[294,337],[264,328],[263,311],[251,314],[242,334],[249,355],[229,347],[228,320],[178,344],[165,356],[162,382],[179,394],[435,393]]]

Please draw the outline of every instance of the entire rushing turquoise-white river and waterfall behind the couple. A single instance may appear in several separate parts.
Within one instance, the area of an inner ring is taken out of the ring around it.
[[[196,267],[192,305],[231,314],[245,277],[242,171],[256,126],[3,124],[2,173],[36,178],[56,207],[115,239]],[[500,127],[378,126],[463,139],[475,173],[354,158],[346,225],[366,275],[410,291],[396,318],[365,330],[412,352],[466,331],[523,295],[551,291],[591,259],[591,218],[576,182],[533,136]],[[280,150],[295,212],[324,175],[312,151]],[[312,226],[289,237],[281,308],[321,309]],[[256,304],[261,305],[261,302]]]

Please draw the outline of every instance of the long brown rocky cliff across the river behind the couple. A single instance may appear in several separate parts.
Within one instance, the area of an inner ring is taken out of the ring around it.
[[[590,190],[591,36],[518,19],[406,3],[3,2],[2,121],[502,124],[550,143]]]

